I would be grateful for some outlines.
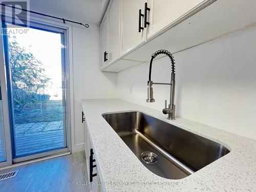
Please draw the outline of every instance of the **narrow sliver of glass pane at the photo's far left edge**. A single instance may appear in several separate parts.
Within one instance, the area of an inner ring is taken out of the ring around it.
[[[6,161],[5,130],[3,118],[3,103],[0,86],[0,162]]]

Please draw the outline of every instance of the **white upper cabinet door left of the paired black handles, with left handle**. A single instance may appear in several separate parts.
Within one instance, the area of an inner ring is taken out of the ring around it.
[[[145,41],[146,29],[139,33],[139,9],[144,14],[144,4],[145,0],[121,1],[121,54],[125,54]],[[143,21],[141,17],[141,27],[143,27]]]

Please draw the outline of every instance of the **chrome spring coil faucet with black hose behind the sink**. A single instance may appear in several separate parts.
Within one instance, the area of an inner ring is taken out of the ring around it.
[[[154,58],[156,58],[159,54],[165,54],[170,58],[170,61],[172,63],[172,73],[171,73],[171,79],[170,83],[158,83],[153,82],[151,80],[151,70],[152,70],[152,62]],[[173,55],[166,50],[159,50],[152,54],[151,61],[150,61],[150,71],[148,75],[148,81],[147,81],[147,99],[146,102],[155,102],[155,99],[153,97],[153,84],[165,84],[170,86],[170,102],[168,104],[167,108],[167,101],[165,100],[165,107],[163,109],[163,114],[168,114],[168,119],[174,120],[176,118],[175,116],[175,104],[174,104],[174,96],[175,96],[175,62],[174,62]]]

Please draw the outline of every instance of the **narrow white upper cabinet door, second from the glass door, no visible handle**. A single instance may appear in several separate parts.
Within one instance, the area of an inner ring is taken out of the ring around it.
[[[113,0],[109,8],[108,64],[120,56],[120,1]]]

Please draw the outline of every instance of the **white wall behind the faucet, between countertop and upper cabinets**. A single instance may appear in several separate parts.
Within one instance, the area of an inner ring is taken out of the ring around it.
[[[256,139],[255,42],[252,27],[174,54],[177,116]],[[148,63],[119,72],[118,97],[161,111],[169,87],[154,86],[156,102],[146,103],[147,79]],[[166,57],[153,62],[152,80],[170,80]]]

